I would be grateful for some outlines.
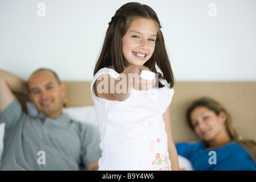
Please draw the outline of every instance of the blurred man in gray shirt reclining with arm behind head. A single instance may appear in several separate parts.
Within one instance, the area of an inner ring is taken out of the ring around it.
[[[22,111],[14,93],[29,96],[38,117]],[[5,123],[1,170],[97,170],[97,129],[63,114],[65,85],[50,69],[38,69],[27,83],[0,70],[0,123]]]

